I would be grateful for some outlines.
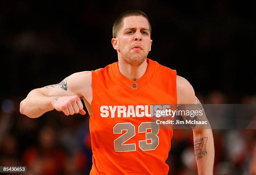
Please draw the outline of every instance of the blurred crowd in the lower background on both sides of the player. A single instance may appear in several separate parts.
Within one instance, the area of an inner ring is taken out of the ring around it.
[[[225,104],[228,99],[220,91],[197,96],[203,104]],[[89,116],[67,117],[51,111],[31,119],[19,113],[19,102],[20,99],[6,99],[1,103],[0,165],[27,166],[28,175],[89,174],[92,166]],[[241,103],[255,104],[256,96],[244,96]],[[256,173],[256,130],[214,129],[213,137],[215,175]],[[174,129],[166,162],[169,174],[197,174],[191,129]]]

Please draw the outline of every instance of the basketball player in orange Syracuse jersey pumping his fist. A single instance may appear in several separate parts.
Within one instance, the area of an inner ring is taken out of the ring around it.
[[[147,58],[151,24],[145,13],[129,10],[113,25],[118,62],[72,74],[61,83],[32,90],[20,112],[36,118],[56,109],[65,115],[90,114],[91,174],[167,174],[172,129],[159,129],[151,104],[200,104],[189,82]],[[123,132],[126,130],[126,132]],[[213,170],[211,129],[193,129],[200,175]],[[199,145],[199,146],[198,146]]]

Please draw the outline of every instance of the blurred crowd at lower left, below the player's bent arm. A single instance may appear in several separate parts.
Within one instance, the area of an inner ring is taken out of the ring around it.
[[[54,111],[31,119],[20,114],[19,101],[3,101],[0,165],[27,166],[29,175],[88,174],[92,165],[88,117]]]

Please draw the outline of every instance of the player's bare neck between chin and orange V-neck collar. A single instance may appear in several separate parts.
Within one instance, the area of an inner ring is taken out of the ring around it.
[[[127,63],[123,59],[118,60],[118,67],[121,74],[123,74],[128,79],[131,79],[133,81],[138,80],[141,78],[148,67],[147,59],[143,61],[140,65],[131,65]]]

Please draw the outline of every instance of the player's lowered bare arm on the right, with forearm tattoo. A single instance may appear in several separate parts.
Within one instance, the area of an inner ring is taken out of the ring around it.
[[[180,76],[177,76],[177,98],[178,104],[197,104],[199,109],[202,109],[200,101],[195,96],[193,87],[186,79]],[[206,116],[204,120],[207,120]],[[207,128],[210,128],[210,124]],[[212,175],[214,163],[212,129],[193,129],[193,137],[198,174]]]

